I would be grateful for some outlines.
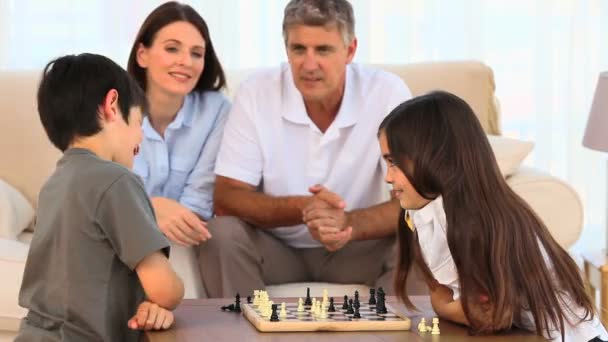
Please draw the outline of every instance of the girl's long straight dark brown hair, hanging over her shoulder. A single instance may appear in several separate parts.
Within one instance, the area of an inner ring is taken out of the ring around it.
[[[568,309],[561,296],[583,308],[583,320],[593,317],[578,267],[509,188],[466,102],[446,92],[414,98],[384,119],[380,134],[417,192],[427,199],[443,197],[448,246],[472,334],[509,329],[522,310],[529,310],[538,335],[559,329],[563,338]],[[405,225],[402,212],[395,289],[412,307],[405,286],[412,264],[421,266],[429,284],[433,279],[416,233]],[[480,296],[488,301],[482,303]]]

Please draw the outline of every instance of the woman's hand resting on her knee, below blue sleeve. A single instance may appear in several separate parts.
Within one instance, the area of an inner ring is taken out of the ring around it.
[[[156,221],[165,236],[182,246],[194,246],[211,238],[207,222],[190,209],[166,197],[153,197]]]

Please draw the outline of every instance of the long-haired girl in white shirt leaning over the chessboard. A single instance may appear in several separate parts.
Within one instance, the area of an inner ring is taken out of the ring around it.
[[[403,208],[395,286],[408,307],[416,263],[435,312],[472,334],[515,325],[549,339],[608,338],[576,264],[502,178],[466,102],[445,92],[404,102],[379,140]]]

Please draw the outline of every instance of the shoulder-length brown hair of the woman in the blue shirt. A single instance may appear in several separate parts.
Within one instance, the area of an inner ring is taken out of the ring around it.
[[[186,21],[192,24],[200,32],[205,40],[205,68],[203,74],[194,86],[195,91],[220,90],[226,86],[226,77],[222,65],[215,53],[209,29],[205,20],[190,6],[179,2],[170,1],[158,6],[148,15],[141,25],[137,37],[131,47],[127,71],[135,78],[142,89],[146,90],[146,70],[137,63],[137,50],[139,44],[146,48],[152,46],[156,33],[163,27],[177,22]]]

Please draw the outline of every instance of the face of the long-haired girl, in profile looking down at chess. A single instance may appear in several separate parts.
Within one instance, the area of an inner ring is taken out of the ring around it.
[[[393,163],[393,156],[391,156],[391,152],[388,149],[388,142],[384,132],[380,134],[379,142],[382,158],[384,158],[387,165],[384,180],[393,186],[393,195],[399,200],[401,208],[420,209],[427,205],[431,200],[420,196],[401,169]]]

